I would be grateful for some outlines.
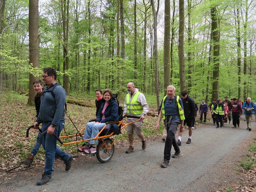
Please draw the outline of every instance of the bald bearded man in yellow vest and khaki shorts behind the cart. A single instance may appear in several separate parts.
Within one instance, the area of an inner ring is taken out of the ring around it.
[[[142,141],[142,149],[147,147],[147,139],[142,132],[142,123],[148,113],[148,103],[145,96],[135,88],[134,83],[127,84],[128,94],[124,100],[124,112],[123,117],[127,117],[127,123],[137,120],[141,117],[141,121],[127,125],[127,134],[129,140],[129,148],[125,153],[133,152],[133,134],[138,135]]]

